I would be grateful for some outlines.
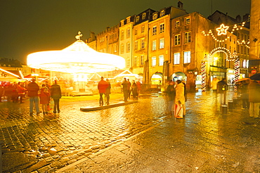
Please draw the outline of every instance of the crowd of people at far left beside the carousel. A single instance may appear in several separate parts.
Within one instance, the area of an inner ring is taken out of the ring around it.
[[[39,103],[44,115],[48,114],[50,110],[53,110],[53,113],[60,113],[61,89],[57,81],[51,86],[48,83],[41,84],[41,87],[35,79],[30,82],[13,82],[5,84],[4,87],[0,86],[0,102],[5,99],[7,102],[24,103],[25,97],[30,100],[30,115],[33,115],[34,110],[39,115]],[[50,108],[51,101],[54,102],[53,108]]]

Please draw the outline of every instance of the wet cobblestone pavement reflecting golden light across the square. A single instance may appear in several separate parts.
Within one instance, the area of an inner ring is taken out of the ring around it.
[[[80,111],[96,103],[61,100],[47,116],[0,103],[4,172],[260,172],[259,119],[240,105],[221,113],[211,92],[189,93],[183,120],[160,94]]]

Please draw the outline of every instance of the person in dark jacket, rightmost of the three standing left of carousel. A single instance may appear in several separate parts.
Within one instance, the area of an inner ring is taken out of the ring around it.
[[[53,98],[54,106],[53,113],[60,113],[60,98],[61,98],[61,89],[57,81],[54,81],[54,84],[51,85],[51,98]]]

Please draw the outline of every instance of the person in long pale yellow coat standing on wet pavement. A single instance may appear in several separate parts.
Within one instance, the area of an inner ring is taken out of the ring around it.
[[[176,96],[175,104],[181,105],[183,108],[183,115],[186,115],[185,96],[184,96],[184,84],[181,80],[176,81]],[[183,118],[183,115],[178,115],[177,118]]]

